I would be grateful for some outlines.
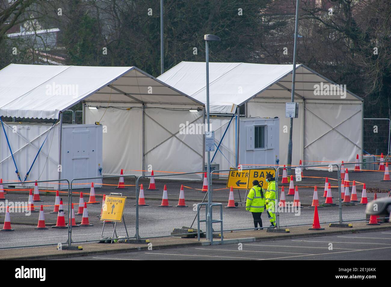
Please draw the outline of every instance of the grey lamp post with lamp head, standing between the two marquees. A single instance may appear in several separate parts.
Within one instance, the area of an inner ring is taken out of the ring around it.
[[[212,35],[204,35],[205,40],[205,52],[206,52],[206,127],[209,131],[209,41],[220,41],[220,38]],[[210,211],[210,204],[212,203],[212,192],[210,190],[210,151],[208,151],[208,167],[207,167],[207,176],[208,176],[208,214],[206,216],[206,239],[212,239],[212,215]]]

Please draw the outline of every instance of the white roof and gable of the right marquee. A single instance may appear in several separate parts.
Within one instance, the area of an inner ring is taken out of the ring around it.
[[[250,63],[209,63],[209,99],[211,112],[232,113],[249,100],[291,100],[292,65]],[[181,62],[158,77],[164,83],[206,103],[206,67],[204,62]],[[304,65],[296,65],[295,99],[360,100],[346,91],[346,98],[314,95],[315,84],[335,84]]]

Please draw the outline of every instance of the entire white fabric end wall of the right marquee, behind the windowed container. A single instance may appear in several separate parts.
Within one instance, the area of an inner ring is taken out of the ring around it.
[[[300,160],[305,165],[355,161],[362,147],[362,102],[296,101],[299,117],[293,119],[292,165]],[[285,100],[255,98],[247,103],[246,115],[280,118],[280,166],[286,164],[290,119],[285,118]]]

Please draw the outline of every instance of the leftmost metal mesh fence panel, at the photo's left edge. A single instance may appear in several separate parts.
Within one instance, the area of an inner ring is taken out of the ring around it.
[[[52,228],[52,226],[55,226],[57,222],[58,212],[54,212],[57,191],[63,200],[65,218],[69,214],[69,188],[70,183],[66,179],[0,183],[0,189],[6,193],[5,199],[0,201],[1,224],[4,224],[5,212],[9,206],[10,224],[14,230],[0,231],[0,249],[57,245],[59,242],[66,244],[68,227]],[[29,196],[30,191],[32,196]],[[38,230],[34,228],[38,226],[41,206],[48,228]]]

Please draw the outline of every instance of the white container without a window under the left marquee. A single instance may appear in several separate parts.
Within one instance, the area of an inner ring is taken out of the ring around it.
[[[41,151],[30,171],[26,181],[53,180],[59,177],[59,125],[26,124],[5,122],[4,128],[9,144],[14,154],[15,162],[22,181],[30,169],[39,148]],[[0,128],[0,177],[3,182],[18,182],[15,165],[9,151],[4,131]],[[61,147],[61,179],[71,181],[74,178],[88,178],[100,176],[99,167],[102,166],[102,126],[84,124],[64,124],[62,127]],[[91,180],[77,183],[77,188],[88,188]],[[97,180],[94,180],[96,183]],[[101,182],[95,187],[101,187]],[[27,184],[29,186],[30,184]],[[58,187],[53,184],[42,183],[41,186],[55,189],[67,189],[62,182]]]

